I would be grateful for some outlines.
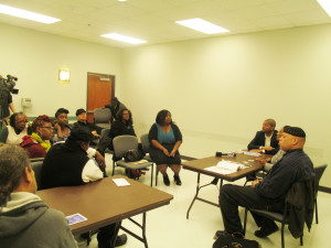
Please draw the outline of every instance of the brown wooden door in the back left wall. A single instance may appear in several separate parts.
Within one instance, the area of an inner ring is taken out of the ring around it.
[[[93,122],[95,108],[109,105],[114,96],[115,76],[87,73],[87,121]]]

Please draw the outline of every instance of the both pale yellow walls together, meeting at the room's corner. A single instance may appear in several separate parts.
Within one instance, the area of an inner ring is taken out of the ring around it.
[[[116,95],[138,134],[167,108],[181,128],[184,155],[246,148],[265,118],[302,127],[316,164],[331,162],[331,25],[114,48],[0,24],[0,74],[19,77],[29,116],[71,115],[86,106],[87,72],[116,76]],[[60,85],[57,72],[72,79]],[[331,169],[322,179],[331,187]]]

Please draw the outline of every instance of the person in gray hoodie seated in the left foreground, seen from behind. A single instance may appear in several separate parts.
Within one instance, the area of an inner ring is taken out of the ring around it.
[[[35,195],[34,172],[18,145],[0,144],[0,192],[1,247],[77,247],[64,214]]]

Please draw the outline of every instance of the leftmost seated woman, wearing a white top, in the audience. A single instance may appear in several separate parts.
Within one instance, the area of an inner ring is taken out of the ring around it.
[[[23,137],[31,134],[26,126],[28,117],[23,112],[15,112],[10,117],[9,125],[0,130],[0,143],[20,144]]]

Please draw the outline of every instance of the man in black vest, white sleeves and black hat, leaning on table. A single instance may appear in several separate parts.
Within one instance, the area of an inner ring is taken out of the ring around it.
[[[105,170],[105,159],[95,149],[89,148],[93,134],[86,128],[73,128],[68,139],[64,143],[55,144],[47,152],[41,180],[43,188],[57,186],[76,186],[102,180]],[[98,165],[93,159],[95,159]],[[116,225],[111,224],[100,228],[97,239],[99,248],[110,248],[116,238]],[[116,238],[115,246],[126,244],[127,236]]]

